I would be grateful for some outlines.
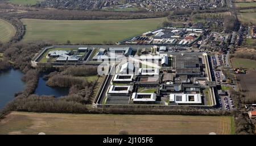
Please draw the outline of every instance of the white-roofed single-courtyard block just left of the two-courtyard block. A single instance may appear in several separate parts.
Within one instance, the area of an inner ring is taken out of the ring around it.
[[[133,93],[131,96],[133,103],[155,103],[155,93]]]

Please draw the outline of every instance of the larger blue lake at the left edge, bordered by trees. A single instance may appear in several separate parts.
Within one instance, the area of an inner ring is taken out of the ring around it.
[[[14,98],[14,94],[23,91],[25,84],[20,80],[23,73],[20,70],[10,69],[0,73],[0,109]]]

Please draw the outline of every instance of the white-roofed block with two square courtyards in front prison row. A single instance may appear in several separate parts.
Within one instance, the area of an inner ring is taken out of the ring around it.
[[[170,103],[177,103],[178,105],[200,105],[202,99],[200,94],[173,94],[169,95]]]

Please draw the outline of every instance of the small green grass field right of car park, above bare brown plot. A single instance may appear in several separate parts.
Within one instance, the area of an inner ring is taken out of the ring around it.
[[[256,69],[256,60],[250,59],[232,59],[233,68],[246,68],[246,69]]]

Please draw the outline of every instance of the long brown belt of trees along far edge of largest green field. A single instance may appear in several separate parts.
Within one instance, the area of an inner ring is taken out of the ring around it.
[[[167,16],[169,12],[114,12],[114,11],[80,11],[80,10],[30,10],[26,12],[0,12],[13,18],[34,18],[54,20],[100,20],[100,19],[142,19]]]

